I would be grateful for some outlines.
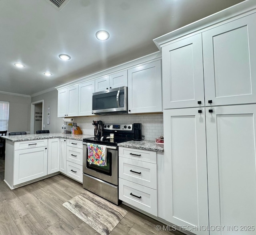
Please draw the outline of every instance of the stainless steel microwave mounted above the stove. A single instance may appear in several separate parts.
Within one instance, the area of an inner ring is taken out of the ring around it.
[[[118,87],[92,94],[92,113],[98,115],[128,113],[127,87]]]

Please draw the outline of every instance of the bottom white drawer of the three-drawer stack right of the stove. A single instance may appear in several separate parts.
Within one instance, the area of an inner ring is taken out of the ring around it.
[[[156,190],[119,178],[119,199],[157,216]]]

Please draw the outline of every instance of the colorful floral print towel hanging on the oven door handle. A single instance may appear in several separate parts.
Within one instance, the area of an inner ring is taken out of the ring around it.
[[[100,144],[87,143],[88,146],[88,162],[97,166],[106,166],[106,146]]]

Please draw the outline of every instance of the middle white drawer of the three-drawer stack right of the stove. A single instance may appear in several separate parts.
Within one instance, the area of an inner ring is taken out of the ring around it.
[[[133,183],[157,189],[156,164],[129,158],[119,158],[119,177]]]

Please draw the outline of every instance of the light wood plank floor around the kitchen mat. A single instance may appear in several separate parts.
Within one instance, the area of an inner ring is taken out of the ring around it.
[[[62,206],[84,192],[82,184],[61,174],[10,190],[4,183],[4,161],[0,158],[0,235],[99,235]],[[162,224],[125,205],[125,217],[110,235],[182,235],[156,231]]]

